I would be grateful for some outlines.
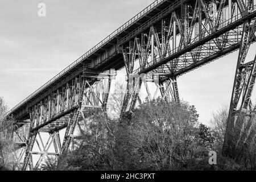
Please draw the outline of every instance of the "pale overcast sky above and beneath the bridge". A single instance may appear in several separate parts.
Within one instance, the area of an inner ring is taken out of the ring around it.
[[[38,16],[40,2],[47,8],[43,18]],[[1,0],[0,96],[15,106],[151,2]],[[178,78],[180,97],[196,106],[200,122],[229,105],[237,54]],[[124,75],[118,72],[117,80]]]

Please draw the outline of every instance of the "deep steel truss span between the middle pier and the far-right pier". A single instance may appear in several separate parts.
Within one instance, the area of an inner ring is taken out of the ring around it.
[[[119,40],[125,51],[126,47],[132,49],[130,42],[139,44],[137,50],[142,52],[142,56],[137,57],[140,67],[133,71],[133,75],[159,69],[179,76],[225,56],[239,48],[243,21],[256,16],[252,3],[249,3],[250,10],[241,9],[240,3],[230,0],[219,3],[197,0],[181,4],[181,11],[172,11],[150,27],[147,23],[142,24],[138,30]],[[155,47],[154,53],[152,47]]]

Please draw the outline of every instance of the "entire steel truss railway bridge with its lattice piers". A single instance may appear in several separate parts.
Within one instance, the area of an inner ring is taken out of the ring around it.
[[[156,82],[154,91],[163,100],[179,102],[177,77],[238,49],[223,154],[241,158],[239,151],[253,140],[256,127],[251,104],[256,59],[246,60],[256,40],[255,17],[253,0],[155,1],[9,111],[16,119],[11,137],[19,169],[37,169],[44,158],[69,149],[75,127],[92,111],[106,111],[117,70],[125,67],[129,80],[123,117],[141,102],[142,85],[151,100],[147,85]],[[42,133],[49,134],[46,144]],[[32,155],[39,156],[37,162]]]

